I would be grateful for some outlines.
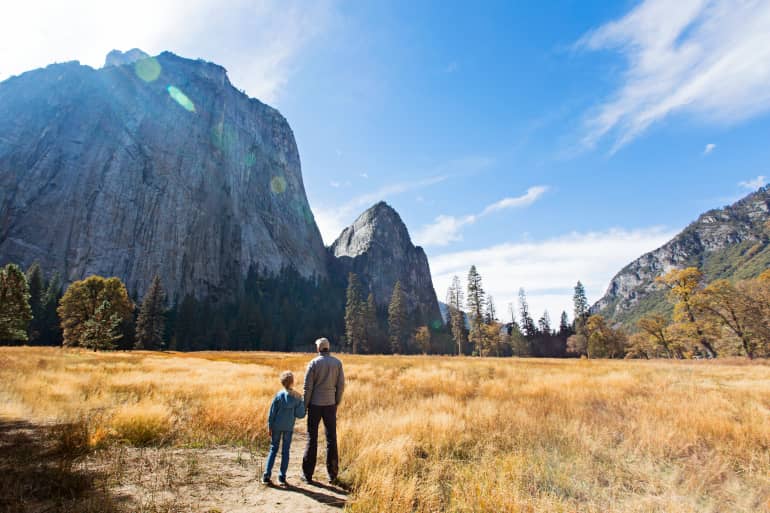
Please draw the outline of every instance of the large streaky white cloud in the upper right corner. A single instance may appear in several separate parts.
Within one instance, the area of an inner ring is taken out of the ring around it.
[[[612,49],[628,61],[618,90],[586,124],[593,147],[613,150],[675,112],[734,123],[770,108],[770,2],[645,0],[586,34],[578,48]]]

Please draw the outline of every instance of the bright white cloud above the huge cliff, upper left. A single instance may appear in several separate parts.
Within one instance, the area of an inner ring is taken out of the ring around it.
[[[233,84],[276,101],[302,52],[335,19],[329,1],[30,0],[3,5],[0,80],[52,62],[100,67],[112,49],[139,47],[203,58],[228,69]]]

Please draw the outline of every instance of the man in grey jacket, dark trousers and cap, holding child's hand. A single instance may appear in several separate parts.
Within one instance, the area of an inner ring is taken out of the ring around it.
[[[337,481],[339,457],[337,455],[337,406],[345,390],[342,362],[329,354],[329,341],[315,341],[318,356],[305,372],[305,407],[307,408],[308,441],[302,458],[302,481],[313,481],[318,453],[318,424],[323,420],[326,431],[326,471],[329,481]]]

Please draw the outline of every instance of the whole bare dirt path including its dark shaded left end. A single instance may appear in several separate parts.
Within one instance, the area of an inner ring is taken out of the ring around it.
[[[341,488],[299,480],[304,432],[294,435],[287,488],[262,485],[265,455],[248,449],[114,446],[84,452],[77,444],[62,445],[72,441],[64,432],[62,426],[0,419],[0,511],[324,513],[341,512],[347,500]],[[276,467],[279,462],[280,456]]]

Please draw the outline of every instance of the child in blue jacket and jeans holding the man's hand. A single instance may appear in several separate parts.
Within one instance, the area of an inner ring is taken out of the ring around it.
[[[291,436],[294,433],[294,419],[301,419],[305,416],[305,401],[302,400],[299,393],[292,390],[293,384],[294,374],[291,371],[282,372],[281,385],[284,389],[275,394],[273,403],[270,405],[270,414],[267,417],[270,452],[267,455],[265,473],[262,475],[262,484],[265,485],[270,484],[270,476],[273,473],[273,465],[280,444],[283,446],[283,450],[278,482],[281,486],[287,486],[286,470],[289,468],[289,450],[291,449]]]

